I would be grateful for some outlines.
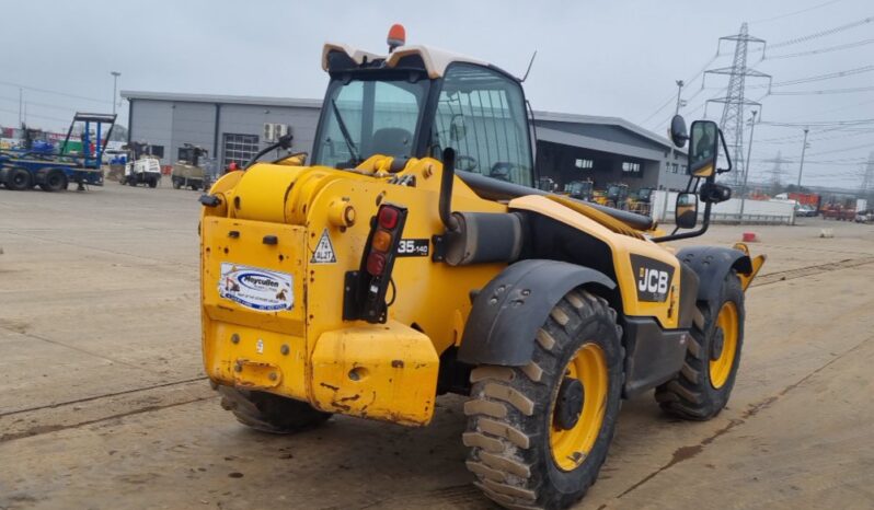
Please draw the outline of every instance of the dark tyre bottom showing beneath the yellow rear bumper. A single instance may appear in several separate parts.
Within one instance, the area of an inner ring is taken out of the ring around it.
[[[221,407],[253,429],[271,433],[294,433],[321,425],[331,418],[306,402],[272,393],[219,386]]]

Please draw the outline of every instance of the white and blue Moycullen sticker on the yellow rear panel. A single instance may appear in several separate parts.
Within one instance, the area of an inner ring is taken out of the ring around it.
[[[260,312],[291,310],[292,281],[291,275],[285,273],[221,263],[219,295]]]

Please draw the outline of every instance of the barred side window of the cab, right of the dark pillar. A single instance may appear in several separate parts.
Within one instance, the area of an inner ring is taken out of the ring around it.
[[[432,153],[456,150],[457,170],[532,186],[531,146],[521,88],[481,66],[446,71],[432,130]]]

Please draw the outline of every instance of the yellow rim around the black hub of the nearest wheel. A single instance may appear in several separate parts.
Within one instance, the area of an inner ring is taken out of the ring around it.
[[[555,390],[550,416],[550,447],[555,464],[562,471],[572,471],[586,460],[603,422],[609,384],[603,350],[595,344],[583,345],[567,363],[564,378],[576,379],[583,384],[583,409],[573,427],[559,427],[555,422],[559,390]]]

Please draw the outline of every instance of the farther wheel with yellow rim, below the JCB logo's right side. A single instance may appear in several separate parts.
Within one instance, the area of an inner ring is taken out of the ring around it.
[[[744,289],[731,271],[722,282],[718,301],[698,303],[692,343],[677,379],[656,389],[663,409],[691,420],[708,420],[728,403],[744,346]]]

